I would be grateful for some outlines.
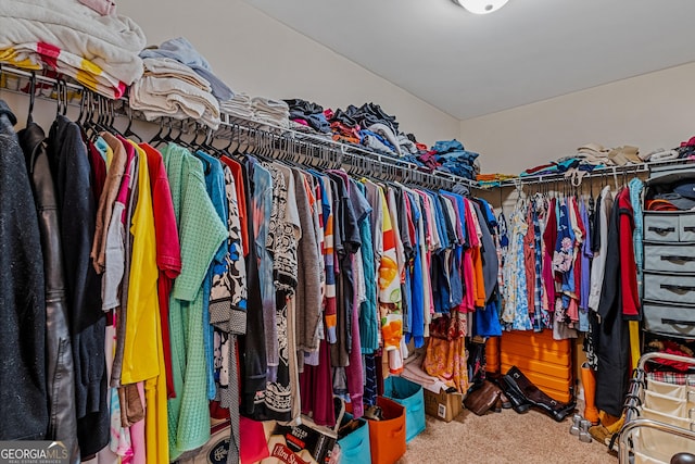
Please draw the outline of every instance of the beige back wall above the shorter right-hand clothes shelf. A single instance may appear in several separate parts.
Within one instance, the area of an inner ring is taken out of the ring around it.
[[[460,123],[482,171],[518,174],[583,143],[677,147],[695,135],[695,63]]]

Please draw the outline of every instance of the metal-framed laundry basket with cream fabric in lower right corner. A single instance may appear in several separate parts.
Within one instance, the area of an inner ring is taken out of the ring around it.
[[[695,359],[648,353],[640,359],[626,401],[620,464],[669,464],[680,452],[695,454],[695,381],[677,385],[648,378],[649,361],[695,364]]]

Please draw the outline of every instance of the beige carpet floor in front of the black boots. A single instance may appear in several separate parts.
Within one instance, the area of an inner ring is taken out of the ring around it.
[[[608,447],[569,434],[571,416],[557,423],[539,411],[477,416],[464,411],[448,424],[427,416],[427,429],[397,464],[617,464]]]

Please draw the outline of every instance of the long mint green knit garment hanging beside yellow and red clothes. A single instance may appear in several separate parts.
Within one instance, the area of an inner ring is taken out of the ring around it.
[[[187,149],[162,150],[181,247],[181,274],[169,298],[172,369],[176,398],[168,400],[169,459],[210,439],[203,344],[203,278],[229,233],[205,190],[203,164]]]

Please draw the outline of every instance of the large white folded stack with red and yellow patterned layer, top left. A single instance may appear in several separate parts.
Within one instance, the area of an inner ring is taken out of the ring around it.
[[[74,0],[0,1],[0,63],[54,70],[109,98],[140,78],[146,43],[129,17]]]

